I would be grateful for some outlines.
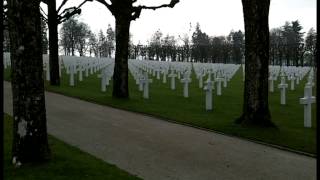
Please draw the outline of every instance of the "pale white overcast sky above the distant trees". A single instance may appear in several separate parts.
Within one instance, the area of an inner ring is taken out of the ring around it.
[[[62,0],[57,0],[57,7]],[[83,0],[69,0],[64,7],[77,6]],[[108,1],[108,0],[107,0]],[[138,0],[144,5],[160,5],[170,0]],[[114,28],[114,17],[102,4],[93,1],[82,7],[79,19],[87,23],[93,32],[106,31],[108,24]],[[269,27],[280,27],[285,21],[299,20],[307,32],[316,28],[316,0],[271,0]],[[241,0],[180,0],[171,8],[143,10],[140,18],[132,21],[130,32],[133,42],[146,43],[160,29],[166,35],[190,35],[196,23],[209,36],[228,35],[233,30],[244,29]],[[190,29],[191,23],[191,29]]]

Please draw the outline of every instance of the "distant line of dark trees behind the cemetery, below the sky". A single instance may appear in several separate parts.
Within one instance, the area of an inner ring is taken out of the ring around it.
[[[270,30],[270,61],[272,65],[305,66],[315,65],[316,36],[313,28],[302,32],[298,20],[285,22],[281,27]],[[41,18],[43,54],[48,53],[48,25]],[[132,36],[131,36],[132,37]],[[180,42],[180,43],[179,43]],[[197,23],[192,36],[163,35],[158,29],[147,44],[129,42],[129,58],[157,61],[204,62],[204,63],[244,63],[244,33],[231,31],[227,36],[209,36]],[[4,51],[9,51],[8,30],[4,30]],[[77,17],[62,23],[59,47],[64,55],[111,57],[115,51],[115,31],[111,25],[105,32],[93,33],[88,24]]]

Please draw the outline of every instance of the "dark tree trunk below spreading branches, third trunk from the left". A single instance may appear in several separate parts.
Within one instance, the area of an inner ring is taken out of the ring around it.
[[[130,19],[118,15],[116,19],[116,57],[113,75],[113,97],[128,98],[128,42]]]

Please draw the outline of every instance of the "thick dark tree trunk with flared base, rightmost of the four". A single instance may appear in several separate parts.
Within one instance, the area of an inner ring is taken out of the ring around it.
[[[243,114],[237,123],[274,126],[268,104],[270,1],[242,0],[245,23],[245,87]]]

